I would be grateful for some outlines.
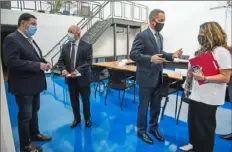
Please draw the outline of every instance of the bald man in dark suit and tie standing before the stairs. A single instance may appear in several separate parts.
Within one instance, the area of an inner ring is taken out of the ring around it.
[[[81,121],[79,93],[82,97],[86,127],[91,127],[90,120],[90,82],[92,65],[92,45],[80,40],[80,28],[72,25],[68,29],[69,42],[63,45],[58,66],[69,87],[74,121],[71,128]]]

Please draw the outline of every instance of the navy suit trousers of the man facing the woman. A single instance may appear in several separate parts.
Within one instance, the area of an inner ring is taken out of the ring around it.
[[[162,78],[161,78],[162,79]],[[138,134],[143,134],[147,129],[147,112],[150,105],[150,130],[158,128],[162,96],[160,87],[162,80],[156,88],[139,87],[139,107],[137,116]]]

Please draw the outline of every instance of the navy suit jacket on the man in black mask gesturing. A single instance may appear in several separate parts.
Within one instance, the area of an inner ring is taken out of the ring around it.
[[[160,74],[163,71],[163,64],[151,62],[152,55],[163,54],[163,57],[172,61],[172,53],[163,51],[163,37],[160,35],[162,42],[162,52],[158,52],[158,46],[154,35],[148,28],[136,35],[130,52],[130,58],[136,61],[137,71],[136,80],[140,86],[156,87],[160,81]],[[162,81],[162,80],[161,80]]]

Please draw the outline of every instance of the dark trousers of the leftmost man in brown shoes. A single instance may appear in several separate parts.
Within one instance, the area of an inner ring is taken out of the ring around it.
[[[20,148],[30,144],[30,137],[39,132],[38,111],[40,108],[40,94],[34,96],[15,96],[19,108],[18,112],[18,132]]]

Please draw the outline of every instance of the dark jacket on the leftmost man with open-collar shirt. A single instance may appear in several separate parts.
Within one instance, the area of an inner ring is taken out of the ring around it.
[[[3,41],[3,59],[8,68],[9,92],[35,95],[46,89],[45,74],[40,70],[40,62],[46,61],[39,57],[33,45],[17,30]]]

